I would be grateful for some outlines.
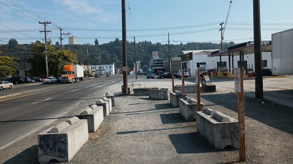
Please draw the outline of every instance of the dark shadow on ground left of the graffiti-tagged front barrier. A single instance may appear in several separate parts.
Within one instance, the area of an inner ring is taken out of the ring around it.
[[[33,145],[28,149],[25,149],[16,156],[8,159],[3,164],[27,164],[38,163],[38,145]]]

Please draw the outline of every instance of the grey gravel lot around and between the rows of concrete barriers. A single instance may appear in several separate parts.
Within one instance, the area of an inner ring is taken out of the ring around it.
[[[129,76],[128,83],[141,83],[143,87],[171,88],[172,84],[171,79],[139,76],[135,80],[133,77]],[[262,100],[253,98],[254,80],[244,81],[246,163],[293,163],[293,108],[282,105],[292,106],[291,79],[265,78],[266,99]],[[185,80],[188,84],[194,78]],[[201,102],[205,107],[237,119],[234,79],[213,80],[217,91],[201,93]],[[175,79],[175,85],[180,83],[180,79]],[[121,85],[122,82],[117,83],[89,96],[98,100],[107,91],[114,93],[113,110],[117,111],[105,117],[96,132],[89,133],[88,142],[69,163],[238,163],[239,151],[213,150],[197,133],[196,122],[185,122],[179,108],[172,107],[169,100],[122,96]],[[196,93],[188,96],[196,99]],[[275,99],[281,104],[271,101]],[[93,99],[83,100],[63,117],[73,116],[93,102]],[[66,119],[61,118],[54,124]],[[52,124],[0,150],[0,163],[37,163],[37,135],[50,126]]]

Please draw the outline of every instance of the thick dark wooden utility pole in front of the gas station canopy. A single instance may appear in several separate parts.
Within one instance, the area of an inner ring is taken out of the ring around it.
[[[261,71],[260,0],[253,0],[253,41],[255,68],[255,98],[263,98],[263,75]]]

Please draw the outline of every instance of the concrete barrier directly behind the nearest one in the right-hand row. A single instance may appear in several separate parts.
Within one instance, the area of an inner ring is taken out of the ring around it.
[[[179,111],[186,121],[193,121],[196,119],[197,101],[188,96],[184,99],[179,99]],[[200,103],[200,110],[203,110],[203,104]]]

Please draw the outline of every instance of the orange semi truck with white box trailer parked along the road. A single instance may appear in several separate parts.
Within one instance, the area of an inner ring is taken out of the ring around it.
[[[64,65],[60,83],[78,83],[84,80],[84,67],[80,65]]]

